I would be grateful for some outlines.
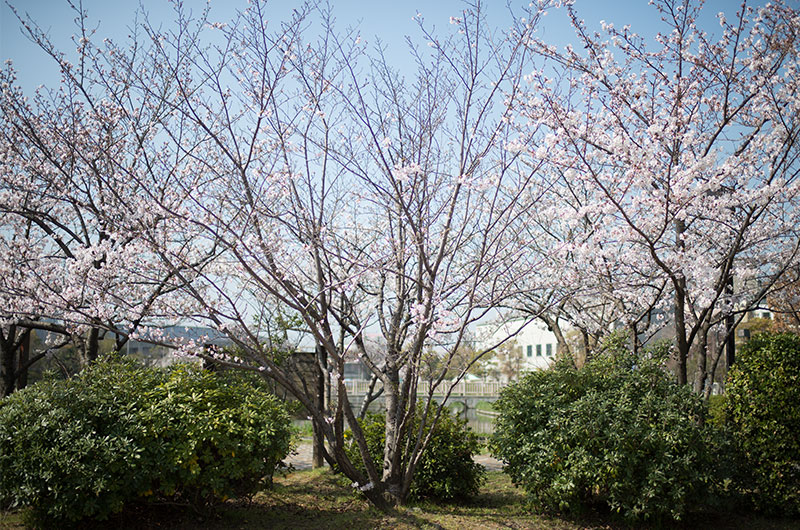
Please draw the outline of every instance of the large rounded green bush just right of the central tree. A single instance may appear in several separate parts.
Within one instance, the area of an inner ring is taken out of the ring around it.
[[[714,476],[704,405],[663,369],[666,354],[617,346],[503,391],[490,447],[536,508],[607,507],[628,522],[658,522],[681,519],[704,496]]]

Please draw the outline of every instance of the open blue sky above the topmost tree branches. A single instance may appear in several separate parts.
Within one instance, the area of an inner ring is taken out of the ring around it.
[[[74,0],[79,2],[80,0]],[[800,5],[800,0],[790,0]],[[427,24],[437,27],[449,23],[451,16],[458,16],[464,4],[456,0],[330,0],[339,27],[358,26],[364,39],[375,42],[379,37],[388,47],[388,56],[396,61],[401,71],[409,66],[410,60],[405,53],[405,36],[419,36],[416,23],[412,20],[417,12],[422,13]],[[27,13],[45,29],[53,42],[61,49],[72,50],[74,45],[69,41],[76,27],[75,18],[66,0],[10,0],[21,14]],[[211,20],[226,22],[237,9],[246,6],[246,0],[211,0]],[[297,1],[269,2],[269,10],[273,19],[288,18]],[[527,3],[527,2],[526,2]],[[751,2],[758,3],[758,2]],[[172,9],[167,0],[142,0],[152,21],[163,21],[169,24],[172,20]],[[484,2],[489,11],[490,23],[498,27],[506,27],[509,21],[506,0],[488,0]],[[519,0],[515,4],[523,5]],[[97,27],[96,35],[117,41],[125,40],[127,28],[133,21],[134,13],[139,5],[137,0],[83,0],[83,7],[89,14],[90,27]],[[185,0],[184,5],[200,11],[205,6],[201,0]],[[725,11],[732,15],[739,6],[737,0],[709,0],[706,2],[702,25],[709,33],[719,33],[716,14]],[[633,31],[648,35],[659,27],[658,12],[648,5],[648,0],[576,0],[576,6],[582,17],[590,26],[596,26],[600,20],[613,22],[616,26],[630,24]],[[572,40],[572,32],[566,24],[565,17],[559,13],[548,16],[540,28],[540,35],[549,42],[563,46]],[[55,64],[20,32],[19,22],[3,3],[0,5],[0,60],[11,59],[19,73],[19,82],[30,92],[40,84],[52,85],[57,82],[58,75]]]

